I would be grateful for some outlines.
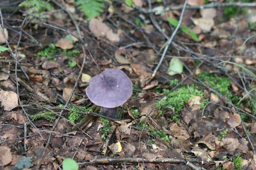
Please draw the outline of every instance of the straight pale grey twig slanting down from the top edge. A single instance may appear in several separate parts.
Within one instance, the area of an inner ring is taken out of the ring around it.
[[[162,62],[163,62],[163,59],[164,59],[164,57],[165,57],[165,54],[166,54],[167,49],[169,48],[169,45],[171,44],[171,42],[172,42],[172,40],[173,40],[175,34],[177,33],[178,29],[180,28],[181,21],[182,21],[182,18],[183,18],[184,11],[185,11],[185,8],[186,8],[187,3],[188,3],[188,0],[186,0],[185,3],[184,3],[184,5],[183,5],[183,9],[182,9],[181,14],[180,14],[179,23],[178,23],[177,27],[175,28],[175,30],[173,31],[171,38],[169,38],[169,40],[168,40],[168,42],[167,42],[167,44],[166,44],[166,47],[164,48],[163,54],[162,54],[162,56],[161,56],[161,59],[160,59],[158,65],[157,65],[157,67],[155,68],[155,70],[154,70],[154,72],[153,72],[151,78],[153,78],[153,77],[156,75],[158,68],[160,67],[160,65],[161,65]]]

